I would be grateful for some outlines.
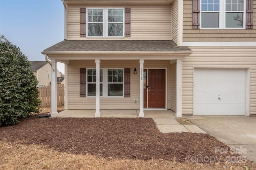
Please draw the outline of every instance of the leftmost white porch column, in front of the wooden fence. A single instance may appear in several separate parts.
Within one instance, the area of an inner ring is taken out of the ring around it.
[[[51,117],[56,117],[58,115],[57,112],[57,60],[51,60]]]

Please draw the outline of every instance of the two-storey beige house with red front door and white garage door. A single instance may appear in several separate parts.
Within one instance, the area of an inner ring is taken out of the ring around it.
[[[65,109],[256,115],[255,0],[63,4],[65,40],[42,54],[65,63]]]

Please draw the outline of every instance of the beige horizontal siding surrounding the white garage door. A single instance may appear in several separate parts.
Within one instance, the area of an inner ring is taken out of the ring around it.
[[[192,55],[182,61],[182,113],[193,113],[194,68],[250,68],[250,115],[256,114],[256,48],[189,47]]]

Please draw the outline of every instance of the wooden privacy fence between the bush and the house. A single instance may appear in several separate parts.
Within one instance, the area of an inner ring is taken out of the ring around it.
[[[51,86],[38,88],[39,99],[42,101],[41,106],[51,106]],[[64,105],[64,84],[57,84],[57,106]]]

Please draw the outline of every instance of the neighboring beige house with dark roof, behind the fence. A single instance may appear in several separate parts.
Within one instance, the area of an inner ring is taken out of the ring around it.
[[[38,81],[38,87],[49,86],[52,80],[51,66],[46,61],[30,61],[31,68]],[[61,77],[62,74],[57,70],[57,76]],[[61,78],[62,80],[64,78]],[[60,83],[64,82],[63,80]],[[62,83],[63,84],[63,83]]]

